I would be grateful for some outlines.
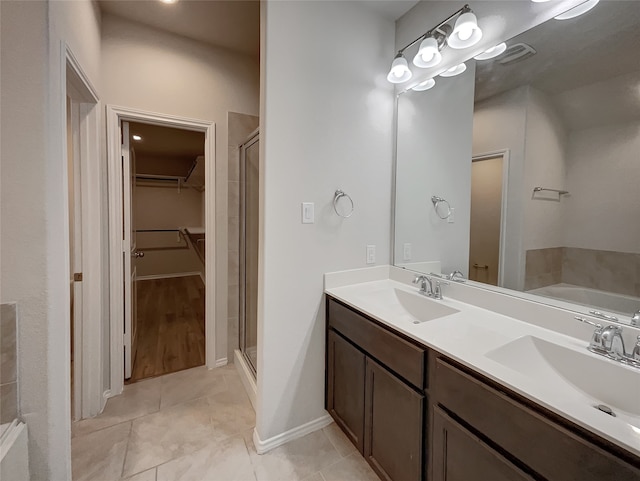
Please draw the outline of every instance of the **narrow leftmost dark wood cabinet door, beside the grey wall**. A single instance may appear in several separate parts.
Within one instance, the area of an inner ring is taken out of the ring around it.
[[[365,355],[327,331],[327,411],[361,453],[364,449]]]

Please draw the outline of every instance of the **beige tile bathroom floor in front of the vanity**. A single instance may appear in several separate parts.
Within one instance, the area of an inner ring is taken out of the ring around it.
[[[233,365],[125,387],[72,426],[74,481],[379,481],[331,424],[258,455],[255,414]]]

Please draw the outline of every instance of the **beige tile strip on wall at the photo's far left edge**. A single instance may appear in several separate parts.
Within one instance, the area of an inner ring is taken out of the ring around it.
[[[16,305],[0,306],[0,424],[18,417]]]

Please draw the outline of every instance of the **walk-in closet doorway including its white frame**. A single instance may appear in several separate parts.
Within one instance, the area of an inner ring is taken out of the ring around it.
[[[107,130],[115,396],[125,379],[215,366],[215,133],[112,106]]]

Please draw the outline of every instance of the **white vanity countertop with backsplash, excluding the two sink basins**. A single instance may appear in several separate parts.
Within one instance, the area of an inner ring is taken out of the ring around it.
[[[589,402],[576,402],[575,395],[564,392],[563,389],[567,389],[565,384],[525,376],[486,356],[490,351],[524,336],[537,337],[590,356],[592,354],[586,347],[593,328],[574,320],[574,312],[471,283],[450,283],[443,286],[444,300],[432,302],[460,312],[413,324],[398,317],[380,299],[383,292],[392,289],[417,292],[411,283],[414,276],[411,271],[393,266],[330,273],[325,275],[325,292],[640,456],[640,426],[631,426],[620,418],[601,416]],[[640,329],[625,327],[624,330],[627,346],[633,346],[632,341],[640,335]],[[626,366],[619,368],[626,370],[625,375],[633,371]],[[637,376],[640,398],[640,373]]]

